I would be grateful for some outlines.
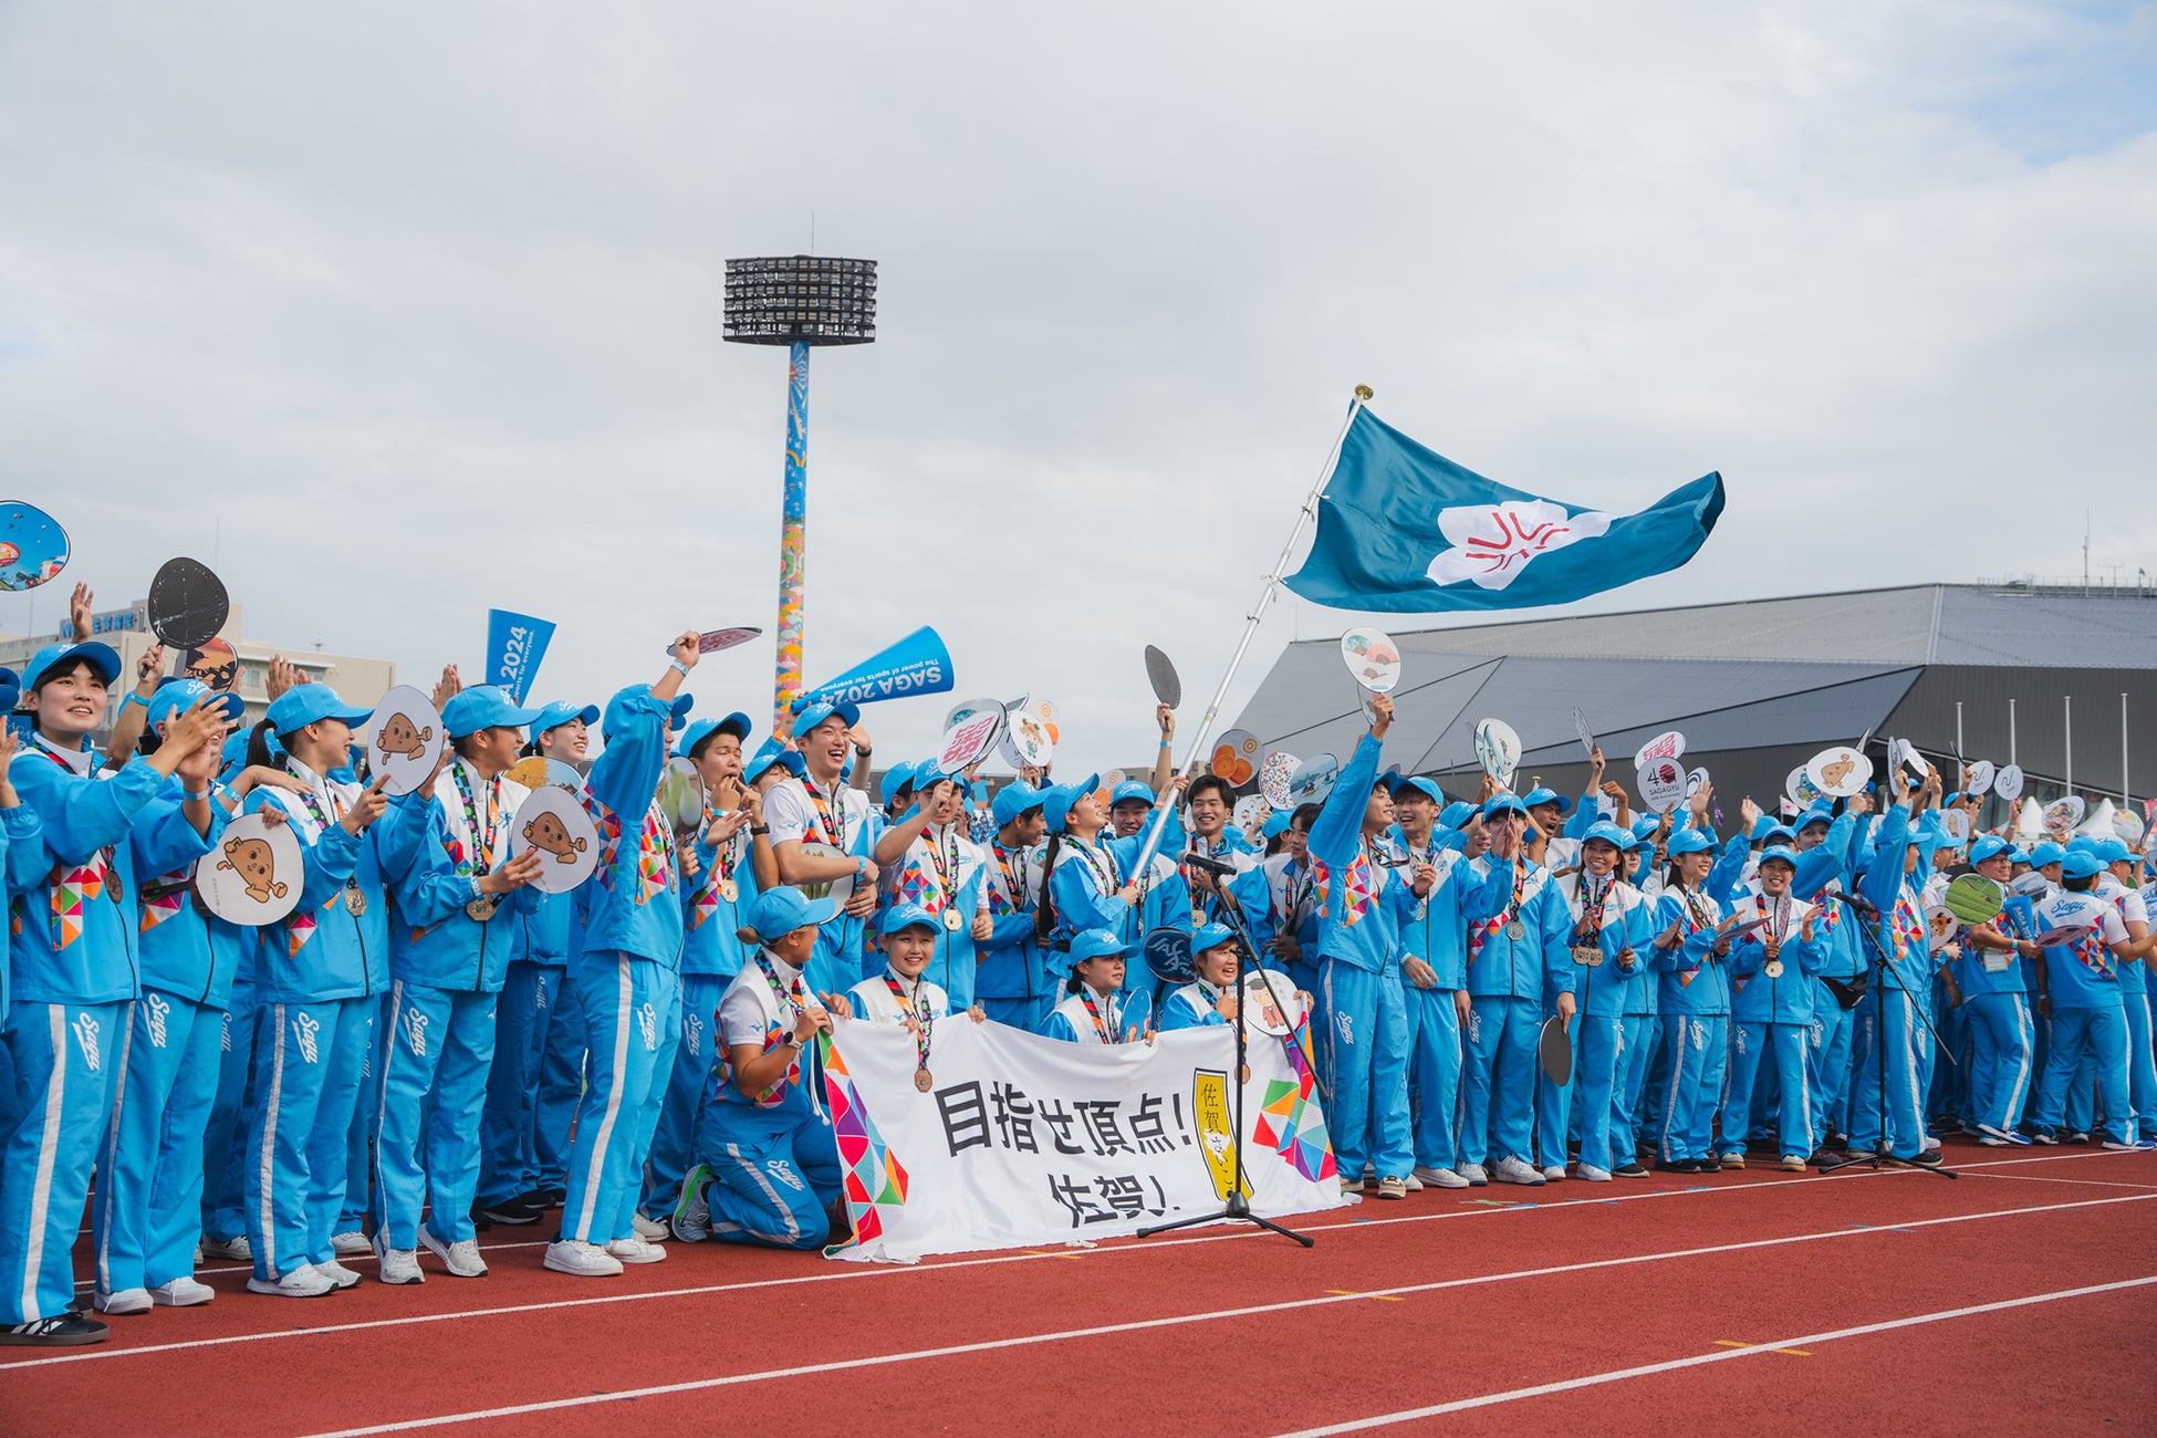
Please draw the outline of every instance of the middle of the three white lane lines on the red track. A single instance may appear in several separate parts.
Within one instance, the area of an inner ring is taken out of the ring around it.
[[[2017,1216],[2023,1216],[2023,1214],[2051,1214],[2051,1212],[2064,1212],[2064,1209],[2105,1207],[2105,1205],[2112,1205],[2112,1203],[2151,1203],[2151,1201],[2157,1201],[2157,1194],[2131,1194],[2131,1197],[2122,1197],[2122,1199],[2086,1199],[2082,1203],[2049,1203],[2049,1205],[2043,1205],[2043,1207],[2015,1207],[2015,1209],[1997,1209],[1997,1212],[1991,1212],[1991,1214],[1956,1214],[1956,1216],[1950,1216],[1950,1218],[1915,1218],[1915,1220],[1911,1220],[1907,1225],[1900,1225],[1900,1227],[1902,1229],[1933,1229],[1933,1227],[1946,1227],[1946,1225],[1956,1225],[1956,1222],[1978,1222],[1978,1220],[1984,1220],[1984,1218],[2017,1218]],[[1148,1330],[1154,1330],[1154,1328],[1180,1328],[1180,1326],[1186,1326],[1186,1324],[1210,1324],[1210,1322],[1232,1319],[1232,1317],[1264,1317],[1268,1313],[1294,1313],[1294,1311],[1301,1311],[1301,1309],[1324,1309],[1324,1306],[1342,1304],[1342,1302],[1365,1302],[1370,1298],[1402,1298],[1402,1296],[1409,1296],[1409,1294],[1437,1294],[1441,1289],[1484,1287],[1484,1285],[1493,1285],[1493,1283],[1512,1283],[1512,1281],[1521,1281],[1521,1278],[1549,1278],[1549,1276],[1557,1276],[1557,1274],[1577,1274],[1577,1272],[1592,1272],[1592,1270],[1603,1270],[1603,1268],[1631,1268],[1631,1266],[1639,1266],[1639,1263],[1663,1263],[1663,1261],[1672,1261],[1672,1259],[1691,1259],[1691,1257],[1706,1257],[1706,1255],[1721,1255],[1721,1253],[1749,1253],[1749,1250],[1756,1250],[1756,1248],[1782,1248],[1782,1246],[1788,1246],[1788,1244],[1810,1244],[1810,1242],[1823,1242],[1823,1240],[1846,1240],[1846,1237],[1872,1235],[1872,1233],[1883,1233],[1883,1231],[1885,1229],[1823,1229],[1818,1233],[1790,1233],[1786,1237],[1756,1237],[1756,1240],[1747,1240],[1743,1244],[1711,1244],[1706,1248],[1674,1248],[1674,1250],[1665,1250],[1665,1253],[1637,1253],[1637,1255],[1618,1257],[1618,1259],[1592,1259],[1592,1261],[1585,1261],[1585,1263],[1555,1263],[1555,1266],[1549,1266],[1549,1268],[1521,1268],[1521,1270],[1503,1272],[1503,1274],[1475,1274],[1475,1276],[1469,1276],[1469,1278],[1439,1278],[1434,1283],[1404,1283],[1404,1285],[1387,1287],[1387,1289],[1365,1289],[1365,1291],[1357,1291],[1357,1294],[1327,1294],[1324,1298],[1290,1298],[1290,1300],[1283,1300],[1283,1302],[1251,1304],[1251,1306],[1245,1306],[1245,1309],[1214,1309],[1214,1311],[1208,1311],[1208,1313],[1178,1313],[1173,1317],[1148,1317],[1148,1319],[1132,1319],[1132,1322],[1126,1322],[1126,1324],[1098,1324],[1094,1328],[1063,1328],[1063,1330],[1057,1330],[1057,1332],[1033,1332],[1033,1335],[1025,1335],[1025,1337],[1016,1337],[1016,1339],[984,1339],[979,1343],[949,1343],[945,1347],[921,1347],[921,1350],[902,1352],[902,1354],[874,1354],[874,1356],[867,1356],[867,1358],[839,1358],[839,1360],[833,1360],[833,1363],[805,1363],[805,1365],[789,1367],[789,1369],[764,1369],[764,1371],[757,1371],[757,1373],[729,1373],[725,1378],[697,1378],[697,1380],[688,1380],[688,1382],[654,1384],[649,1388],[623,1388],[619,1393],[587,1393],[587,1395],[578,1395],[578,1397],[546,1399],[546,1401],[537,1401],[537,1404],[511,1404],[511,1406],[505,1406],[505,1408],[475,1408],[475,1410],[468,1410],[468,1412],[436,1414],[436,1416],[427,1416],[427,1419],[406,1419],[401,1423],[375,1423],[375,1425],[369,1425],[369,1427],[345,1427],[345,1429],[336,1429],[336,1432],[330,1432],[330,1434],[317,1434],[315,1438],[360,1438],[362,1434],[403,1434],[403,1432],[412,1432],[412,1429],[421,1429],[421,1427],[446,1427],[446,1425],[453,1425],[453,1423],[479,1423],[479,1421],[487,1421],[487,1419],[513,1419],[513,1416],[522,1416],[522,1414],[528,1414],[528,1412],[561,1412],[565,1408],[589,1408],[593,1404],[623,1404],[623,1401],[643,1399],[643,1397],[667,1397],[667,1395],[675,1395],[675,1393],[703,1393],[703,1391],[710,1391],[710,1388],[733,1388],[733,1386],[740,1386],[740,1384],[774,1382],[774,1380],[783,1380],[783,1378],[813,1378],[818,1373],[843,1373],[843,1371],[852,1371],[852,1369],[891,1367],[891,1365],[899,1365],[899,1363],[923,1363],[923,1360],[932,1360],[932,1358],[958,1358],[958,1356],[964,1356],[964,1354],[986,1354],[986,1352],[999,1352],[999,1350],[1007,1350],[1007,1347],[1035,1347],[1035,1345],[1042,1345],[1042,1343],[1068,1343],[1072,1339],[1098,1339],[1098,1337],[1122,1335],[1122,1332],[1148,1332]],[[1799,1339],[1790,1339],[1790,1341],[1784,1341],[1780,1345],[1788,1347],[1790,1343],[1797,1343],[1797,1341]],[[1730,1352],[1736,1354],[1736,1352],[1743,1352],[1743,1350],[1730,1350]]]

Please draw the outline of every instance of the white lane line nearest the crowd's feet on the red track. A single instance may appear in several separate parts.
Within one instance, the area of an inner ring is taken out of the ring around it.
[[[2062,1162],[2062,1160],[2071,1160],[2071,1158],[2127,1158],[2127,1156],[2125,1153],[2047,1153],[2047,1156],[2036,1156],[2036,1158],[2004,1158],[2004,1160],[1997,1160],[1997,1162],[1991,1162],[1991,1164],[1965,1164],[1965,1166],[1969,1166],[1969,1169],[2004,1169],[2004,1166],[2010,1166],[2010,1164],[2051,1164],[2051,1162]],[[1915,1173],[1913,1169],[1874,1169],[1874,1171],[1859,1173],[1855,1177],[1859,1177],[1859,1179],[1911,1177],[1913,1173]],[[1398,1218],[1350,1218],[1350,1220],[1344,1220],[1344,1222],[1322,1222],[1322,1225],[1309,1225],[1309,1227],[1301,1229],[1301,1233],[1335,1233],[1335,1231],[1355,1233],[1357,1229],[1385,1229],[1385,1227],[1404,1225],[1404,1222],[1441,1222],[1441,1220],[1450,1220],[1450,1218],[1488,1218],[1493,1214],[1531,1214],[1531,1212],[1549,1212],[1549,1209],[1594,1207],[1594,1205],[1609,1205],[1609,1203],[1637,1203],[1641,1199],[1680,1199],[1680,1197],[1698,1197],[1698,1194],[1747,1194],[1747,1192],[1762,1192],[1762,1190],[1769,1190],[1769,1188],[1786,1188],[1790,1184],[1814,1184],[1814,1181],[1821,1181],[1821,1177],[1823,1175],[1805,1175],[1805,1177],[1788,1177],[1788,1179],[1780,1179],[1780,1177],[1777,1179],[1758,1179],[1758,1181],[1745,1181],[1745,1184],[1693,1184],[1693,1186],[1687,1186],[1687,1188],[1644,1188],[1644,1190],[1633,1190],[1633,1192],[1613,1192],[1613,1194],[1607,1194],[1607,1197],[1598,1194],[1594,1199],[1557,1199],[1557,1201],[1551,1201],[1551,1203],[1536,1203],[1536,1201],[1529,1201],[1529,1199],[1519,1199],[1514,1203],[1495,1205],[1495,1207],[1482,1207],[1482,1205],[1478,1205],[1478,1207],[1445,1209],[1445,1212],[1439,1212],[1439,1214],[1402,1214]],[[1447,1192],[1458,1192],[1458,1190],[1447,1190]],[[1525,1190],[1525,1192],[1534,1192],[1534,1190]],[[1872,1227],[1890,1229],[1890,1227],[1896,1227],[1896,1225],[1883,1222],[1883,1225],[1872,1225]],[[1109,1253],[1145,1253],[1150,1248],[1184,1248],[1184,1246],[1193,1246],[1193,1244],[1227,1244],[1227,1242],[1240,1242],[1240,1240],[1253,1240],[1253,1237],[1266,1237],[1266,1233],[1260,1233],[1255,1229],[1227,1229],[1223,1233],[1204,1233],[1204,1235],[1191,1235],[1191,1237],[1111,1240],[1111,1242],[1107,1242],[1107,1244],[1102,1244],[1098,1248],[1087,1248],[1085,1253],[1100,1253],[1100,1255],[1109,1255]],[[99,1345],[99,1347],[91,1347],[91,1350],[73,1352],[73,1354],[54,1354],[50,1358],[17,1358],[13,1363],[0,1360],[0,1378],[4,1378],[6,1373],[11,1373],[15,1369],[52,1367],[52,1365],[58,1365],[58,1363],[101,1363],[101,1360],[112,1360],[112,1358],[136,1358],[136,1356],[145,1356],[145,1354],[170,1354],[170,1352],[181,1352],[181,1350],[192,1350],[192,1347],[226,1347],[226,1345],[233,1345],[233,1343],[263,1343],[263,1341],[270,1341],[270,1339],[313,1339],[313,1337],[324,1337],[324,1335],[332,1335],[332,1332],[362,1332],[362,1330],[371,1330],[371,1328],[406,1328],[406,1326],[416,1326],[416,1324],[449,1324],[449,1322],[468,1319],[468,1317],[503,1317],[503,1315],[511,1315],[511,1313],[550,1313],[550,1311],[561,1311],[561,1309],[591,1309],[591,1306],[602,1306],[602,1304],[647,1302],[647,1300],[660,1300],[660,1298],[701,1298],[701,1296],[707,1296],[707,1294],[736,1294],[736,1291],[742,1291],[742,1289],[787,1287],[787,1285],[796,1285],[796,1283],[846,1283],[846,1281],[856,1281],[856,1278],[893,1278],[893,1276],[899,1276],[899,1274],[934,1274],[934,1272],[943,1272],[943,1270],[951,1270],[951,1268],[988,1268],[988,1266],[997,1266],[997,1263],[1033,1263],[1033,1261],[1050,1259],[1050,1257],[1068,1257],[1068,1253],[1070,1250],[1059,1250],[1059,1253],[999,1253],[999,1255],[981,1257],[981,1259],[945,1259],[945,1261],[936,1261],[936,1263],[889,1266],[889,1268],[887,1266],[871,1266],[871,1268],[848,1266],[848,1268],[843,1268],[839,1272],[789,1274],[785,1278],[753,1278],[753,1281],[740,1281],[740,1283],[707,1283],[707,1285],[684,1287],[684,1289],[649,1289],[649,1291],[634,1291],[634,1294],[602,1294],[597,1298],[552,1298],[552,1300],[546,1300],[546,1302],[500,1304],[500,1306],[494,1306],[494,1309],[457,1309],[457,1311],[451,1311],[451,1313],[410,1313],[410,1315],[401,1315],[401,1317],[377,1317],[377,1319],[367,1319],[367,1322],[358,1322],[358,1324],[315,1324],[315,1326],[306,1326],[306,1328],[276,1328],[276,1330],[270,1330],[270,1332],[233,1332],[233,1335],[224,1335],[224,1337],[216,1337],[216,1339],[183,1339],[179,1343],[142,1343],[138,1347],[104,1347],[104,1345]],[[235,1270],[235,1272],[250,1272],[250,1270]]]

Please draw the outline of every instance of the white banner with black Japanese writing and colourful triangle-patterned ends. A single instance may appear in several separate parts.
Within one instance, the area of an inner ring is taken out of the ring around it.
[[[1251,1033],[1245,1192],[1268,1218],[1342,1207],[1320,1097],[1301,1050]],[[843,1259],[1027,1248],[1214,1214],[1227,1197],[1236,1035],[1212,1024],[1152,1043],[1061,1043],[964,1013],[915,1035],[837,1020],[824,1095],[854,1242]]]

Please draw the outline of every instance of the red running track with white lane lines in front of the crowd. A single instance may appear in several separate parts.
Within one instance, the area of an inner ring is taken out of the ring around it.
[[[485,1281],[429,1263],[311,1302],[214,1268],[207,1309],[4,1350],[0,1432],[2157,1427],[2157,1156],[1950,1160],[1952,1184],[1428,1190],[1296,1220],[1309,1253],[1240,1229],[915,1268],[675,1244],[578,1281],[498,1229]]]

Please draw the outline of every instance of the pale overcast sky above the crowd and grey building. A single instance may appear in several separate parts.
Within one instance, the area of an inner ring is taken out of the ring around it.
[[[932,623],[1128,763],[1141,647],[1195,720],[1359,382],[1575,504],[1721,470],[1605,608],[2079,573],[2086,507],[2157,569],[2153,129],[2146,4],[0,0],[0,498],[101,606],[194,554],[421,683],[520,608],[535,696],[604,699],[774,627],[723,261],[813,213],[882,293],[813,364],[811,681]],[[1350,619],[1283,604],[1229,711]],[[768,642],[690,688],[761,735]]]

